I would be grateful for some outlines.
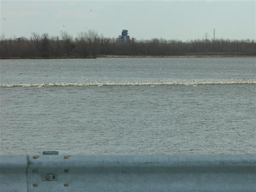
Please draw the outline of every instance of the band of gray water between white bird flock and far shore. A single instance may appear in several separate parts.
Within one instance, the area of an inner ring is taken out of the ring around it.
[[[1,60],[1,83],[255,79],[249,58],[98,58]],[[22,73],[22,75],[20,75]]]

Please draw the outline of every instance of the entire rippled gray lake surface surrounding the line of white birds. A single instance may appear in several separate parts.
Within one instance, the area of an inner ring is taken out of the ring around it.
[[[256,79],[255,58],[0,60],[0,84]],[[0,153],[256,153],[256,84],[1,87]]]

